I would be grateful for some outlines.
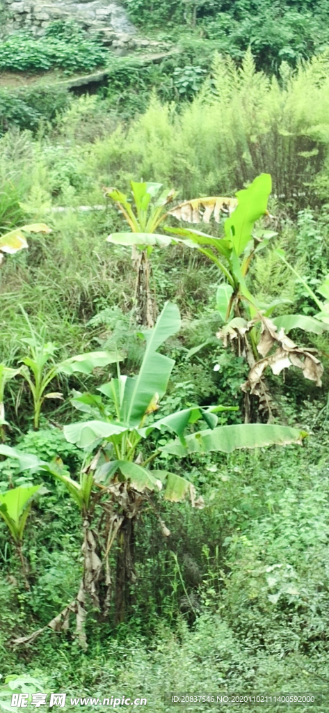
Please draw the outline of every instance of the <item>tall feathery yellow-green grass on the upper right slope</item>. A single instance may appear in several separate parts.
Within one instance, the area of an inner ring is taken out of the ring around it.
[[[112,183],[164,180],[184,198],[232,193],[267,171],[274,193],[288,200],[306,193],[308,202],[328,148],[328,68],[328,52],[296,72],[283,63],[278,82],[256,71],[250,51],[241,68],[216,56],[191,104],[177,113],[154,96],[129,128],[95,143],[94,165]]]

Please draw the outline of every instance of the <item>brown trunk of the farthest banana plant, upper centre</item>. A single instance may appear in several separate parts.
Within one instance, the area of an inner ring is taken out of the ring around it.
[[[146,250],[137,250],[132,247],[132,260],[136,272],[135,283],[135,314],[136,322],[140,327],[152,329],[155,326],[157,307],[155,296],[152,297],[150,277],[152,267]]]

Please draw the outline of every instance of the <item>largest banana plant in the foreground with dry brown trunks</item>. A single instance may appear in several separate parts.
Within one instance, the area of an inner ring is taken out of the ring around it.
[[[163,493],[164,499],[172,502],[188,496],[192,506],[202,506],[202,498],[197,498],[188,478],[167,468],[152,469],[152,461],[161,451],[176,455],[180,445],[184,451],[179,453],[182,457],[192,451],[230,452],[234,448],[299,443],[305,435],[298,429],[263,424],[219,427],[216,414],[226,407],[218,404],[207,408],[190,406],[157,418],[174,366],[174,361],[160,354],[158,349],[166,339],[177,333],[179,327],[179,310],[175,304],[168,302],[154,329],[143,332],[145,355],[138,374],[125,376],[117,368],[117,377],[100,386],[98,394],[75,393],[73,405],[88,420],[64,426],[64,434],[70,443],[85,450],[80,481],[73,481],[68,473],[64,473],[61,463],[51,466],[53,476],[66,484],[83,518],[84,572],[75,611],[80,642],[84,646],[85,638],[81,633],[85,617],[83,602],[89,594],[94,605],[100,607],[102,582],[103,602],[108,605],[113,588],[109,553],[115,542],[115,621],[120,622],[125,617],[130,601],[130,585],[136,578],[133,552],[135,522],[145,504],[157,512],[152,493],[160,493],[160,496]],[[185,431],[199,420],[203,421],[204,430],[185,436]],[[178,441],[153,448],[150,453],[147,438],[156,431],[169,431],[177,436]],[[147,452],[145,448],[148,448]],[[96,504],[100,506],[102,515],[93,528]],[[169,535],[160,515],[157,516],[162,532]]]

